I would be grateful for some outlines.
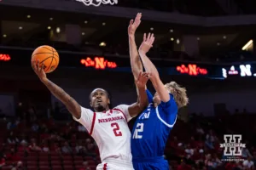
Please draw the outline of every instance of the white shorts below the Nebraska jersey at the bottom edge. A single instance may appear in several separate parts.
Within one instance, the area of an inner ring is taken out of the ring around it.
[[[96,170],[134,170],[134,168],[132,162],[108,159],[102,161],[102,163],[96,167]]]

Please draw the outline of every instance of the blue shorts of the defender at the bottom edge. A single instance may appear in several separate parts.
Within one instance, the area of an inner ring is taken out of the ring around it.
[[[132,158],[135,170],[169,170],[168,161],[162,156],[148,158]]]

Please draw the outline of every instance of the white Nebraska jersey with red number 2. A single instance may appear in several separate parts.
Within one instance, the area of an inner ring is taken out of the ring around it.
[[[118,105],[113,110],[93,112],[81,107],[79,120],[99,147],[102,161],[114,158],[131,161],[131,132],[127,122],[131,120],[129,105]]]

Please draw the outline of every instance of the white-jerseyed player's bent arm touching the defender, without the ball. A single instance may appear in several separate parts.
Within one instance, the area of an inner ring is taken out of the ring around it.
[[[145,90],[146,84],[149,79],[147,72],[140,72],[136,81],[138,99],[137,102],[128,107],[128,111],[131,117],[137,116],[148,106],[148,97]]]

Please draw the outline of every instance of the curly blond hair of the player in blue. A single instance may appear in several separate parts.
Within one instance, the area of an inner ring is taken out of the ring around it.
[[[166,83],[165,87],[170,92],[170,94],[173,95],[178,108],[188,105],[189,98],[187,96],[186,88],[180,87],[177,82]]]

